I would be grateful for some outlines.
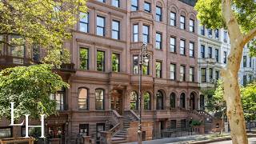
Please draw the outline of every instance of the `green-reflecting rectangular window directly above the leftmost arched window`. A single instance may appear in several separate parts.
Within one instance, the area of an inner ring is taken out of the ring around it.
[[[80,69],[89,70],[89,49],[80,47]]]

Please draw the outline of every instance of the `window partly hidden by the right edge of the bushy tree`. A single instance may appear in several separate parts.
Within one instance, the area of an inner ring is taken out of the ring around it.
[[[64,110],[65,89],[58,90],[57,94],[50,94],[50,99],[56,102],[56,110]]]

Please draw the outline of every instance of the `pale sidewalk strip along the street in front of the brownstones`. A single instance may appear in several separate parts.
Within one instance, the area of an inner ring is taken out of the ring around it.
[[[176,138],[162,138],[162,139],[154,139],[151,141],[144,141],[142,144],[162,144],[162,143],[187,143],[191,141],[198,141],[198,140],[206,140],[207,137],[209,137],[212,134],[195,134],[195,135],[189,135],[189,136],[182,136],[182,137],[176,137]],[[127,144],[137,144],[138,142],[128,142]]]

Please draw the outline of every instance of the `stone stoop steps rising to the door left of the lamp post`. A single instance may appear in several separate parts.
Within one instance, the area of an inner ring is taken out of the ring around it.
[[[112,143],[125,143],[127,142],[127,129],[130,128],[130,122],[134,122],[134,119],[130,115],[124,115],[122,118],[122,129],[111,138]]]

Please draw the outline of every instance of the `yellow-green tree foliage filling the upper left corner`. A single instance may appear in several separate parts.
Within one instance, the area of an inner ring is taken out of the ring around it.
[[[79,11],[86,12],[86,0],[2,0],[0,45],[41,46],[46,53],[42,62],[69,62],[63,41],[71,38]]]

